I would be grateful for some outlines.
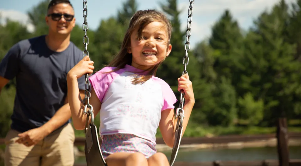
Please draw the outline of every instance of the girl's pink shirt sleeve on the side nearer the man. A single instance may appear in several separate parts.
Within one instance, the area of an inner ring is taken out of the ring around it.
[[[111,70],[113,70],[113,67],[104,67],[89,77],[92,88],[94,88],[94,91],[101,102],[103,102],[103,97],[114,80],[114,72],[106,73]]]

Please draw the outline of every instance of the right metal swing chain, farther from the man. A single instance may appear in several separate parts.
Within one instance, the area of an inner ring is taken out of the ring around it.
[[[190,36],[191,36],[191,22],[192,22],[192,13],[193,13],[193,3],[194,0],[189,0],[190,4],[189,4],[189,9],[188,9],[188,18],[187,18],[187,30],[186,30],[186,43],[185,43],[185,56],[183,57],[183,65],[184,65],[184,70],[182,72],[182,75],[187,74],[187,65],[189,62],[189,57],[188,57],[188,51],[190,49]],[[182,126],[183,123],[183,118],[184,118],[184,110],[183,110],[183,106],[184,106],[184,91],[181,90],[180,91],[180,104],[179,104],[179,108],[177,108],[176,112],[175,112],[175,118],[180,118],[180,125]]]

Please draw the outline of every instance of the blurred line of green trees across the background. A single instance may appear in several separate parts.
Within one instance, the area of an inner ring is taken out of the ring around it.
[[[18,41],[47,33],[47,5],[45,0],[28,12],[35,27],[32,33],[11,20],[0,24],[0,59]],[[270,12],[263,11],[247,31],[240,28],[229,10],[224,11],[212,27],[212,35],[199,41],[188,54],[187,71],[196,101],[187,127],[190,132],[185,135],[193,135],[196,126],[273,127],[281,116],[301,118],[300,5],[301,0],[292,4],[281,0]],[[101,20],[96,30],[88,30],[88,51],[95,72],[118,52],[137,7],[135,0],[126,0],[116,16]],[[177,78],[184,69],[186,30],[180,29],[182,11],[177,10],[176,0],[161,3],[161,9],[171,18],[174,31],[172,53],[157,76],[166,80],[179,98]],[[192,29],[193,35],[198,29],[193,25]],[[71,34],[71,41],[80,49],[84,46],[83,34],[81,24]],[[0,137],[5,137],[9,129],[15,91],[12,80],[1,92]]]

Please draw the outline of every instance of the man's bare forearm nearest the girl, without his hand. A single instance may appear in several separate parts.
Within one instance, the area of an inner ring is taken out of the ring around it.
[[[79,92],[81,98],[84,99],[85,91],[80,90]],[[71,111],[68,102],[68,96],[66,96],[65,105],[63,105],[48,122],[41,126],[41,128],[46,131],[46,135],[49,135],[51,132],[55,131],[57,128],[66,123],[70,118]]]

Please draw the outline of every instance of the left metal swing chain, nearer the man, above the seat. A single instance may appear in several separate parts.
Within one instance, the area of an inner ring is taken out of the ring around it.
[[[82,23],[82,30],[85,32],[85,35],[83,37],[83,44],[85,45],[85,49],[82,52],[82,58],[84,58],[86,55],[89,56],[89,51],[87,50],[88,44],[89,44],[89,38],[87,36],[87,31],[88,31],[88,22],[87,22],[87,10],[88,10],[88,6],[87,6],[87,2],[88,0],[82,0],[83,3],[83,11],[82,11],[82,16],[84,18],[84,22]],[[87,114],[87,122],[86,122],[86,129],[88,127],[88,122],[89,122],[89,116],[91,116],[91,123],[94,122],[94,116],[93,116],[93,107],[90,105],[90,97],[91,97],[91,85],[89,82],[89,75],[85,74],[85,98],[84,98],[84,103],[85,107],[83,110],[84,114]]]

